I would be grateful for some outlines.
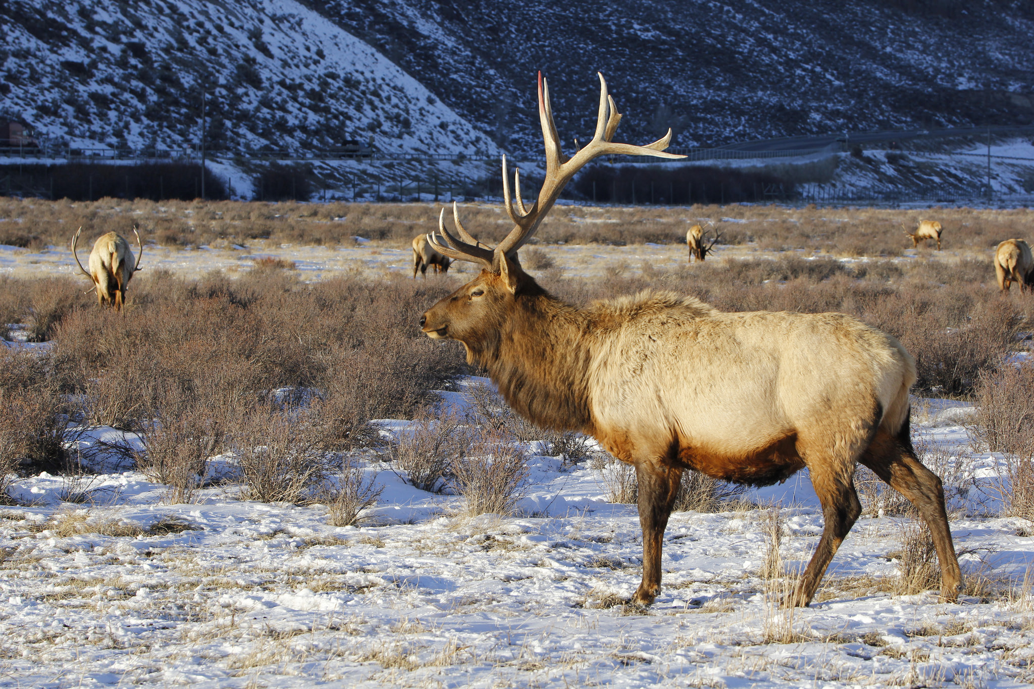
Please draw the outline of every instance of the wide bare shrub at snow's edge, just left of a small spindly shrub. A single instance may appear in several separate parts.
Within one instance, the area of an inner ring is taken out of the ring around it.
[[[297,407],[262,404],[245,412],[231,434],[242,497],[294,503],[312,497],[330,466],[311,420],[311,412]]]

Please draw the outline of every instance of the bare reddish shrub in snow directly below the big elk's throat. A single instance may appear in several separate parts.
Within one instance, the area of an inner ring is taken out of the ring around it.
[[[473,440],[451,467],[464,511],[470,516],[512,513],[524,497],[527,456],[505,431],[482,429]]]

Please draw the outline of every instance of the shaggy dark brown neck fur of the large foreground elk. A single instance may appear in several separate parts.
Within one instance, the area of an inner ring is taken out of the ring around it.
[[[492,338],[477,349],[467,344],[470,358],[518,414],[544,428],[590,432],[588,319],[526,275],[514,302]]]

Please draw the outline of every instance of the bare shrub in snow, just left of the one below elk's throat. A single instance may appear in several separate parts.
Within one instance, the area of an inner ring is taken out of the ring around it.
[[[413,426],[391,443],[392,467],[409,486],[436,493],[443,488],[447,469],[468,440],[469,434],[454,411],[425,407]]]

